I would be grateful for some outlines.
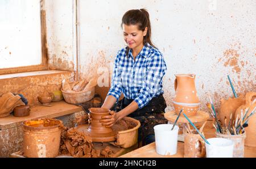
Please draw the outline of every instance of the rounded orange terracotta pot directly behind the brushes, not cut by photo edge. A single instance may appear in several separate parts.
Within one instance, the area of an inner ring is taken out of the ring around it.
[[[230,114],[232,113],[233,122],[237,108],[245,104],[245,95],[240,94],[238,95],[238,98],[229,98],[228,100],[221,99],[220,102],[218,119],[220,119],[221,124],[224,124],[226,117],[226,124],[229,124]]]

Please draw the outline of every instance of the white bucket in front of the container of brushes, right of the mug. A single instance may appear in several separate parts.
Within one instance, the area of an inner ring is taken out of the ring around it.
[[[232,140],[226,138],[209,138],[207,141],[210,143],[205,143],[207,158],[217,157],[217,158],[232,158],[234,143]]]

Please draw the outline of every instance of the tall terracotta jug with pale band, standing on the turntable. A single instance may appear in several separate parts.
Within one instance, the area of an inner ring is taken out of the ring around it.
[[[200,105],[195,86],[195,74],[176,74],[174,82],[174,109],[179,114],[181,108],[187,116],[195,116]],[[181,116],[183,114],[181,113]]]

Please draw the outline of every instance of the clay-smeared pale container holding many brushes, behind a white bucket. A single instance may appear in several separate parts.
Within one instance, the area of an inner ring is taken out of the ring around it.
[[[244,156],[245,138],[246,138],[245,132],[243,134],[238,134],[238,135],[227,135],[227,134],[221,134],[218,132],[215,132],[215,134],[216,134],[216,137],[218,138],[226,138],[234,142],[233,157],[242,158]]]

